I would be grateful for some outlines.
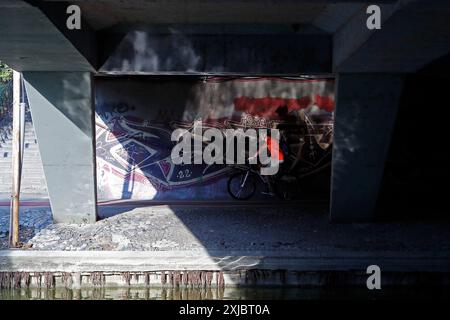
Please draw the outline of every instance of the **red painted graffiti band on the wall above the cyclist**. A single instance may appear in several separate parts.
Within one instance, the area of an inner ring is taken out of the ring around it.
[[[315,95],[314,101],[309,96],[299,99],[283,99],[274,97],[251,98],[239,97],[234,99],[234,106],[238,111],[245,111],[251,114],[257,114],[262,117],[273,117],[279,107],[287,106],[288,112],[294,110],[306,109],[313,104],[327,112],[334,109],[334,99],[331,97]]]

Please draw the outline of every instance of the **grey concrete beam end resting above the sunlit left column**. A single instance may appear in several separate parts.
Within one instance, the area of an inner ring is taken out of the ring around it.
[[[94,71],[96,53],[88,26],[63,33],[37,6],[42,1],[31,3],[1,1],[0,59],[17,71]],[[62,28],[67,6],[59,3],[51,8],[48,14]]]

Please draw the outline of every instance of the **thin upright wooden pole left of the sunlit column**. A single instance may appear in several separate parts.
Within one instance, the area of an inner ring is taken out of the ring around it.
[[[12,196],[11,220],[9,228],[9,244],[19,246],[19,203],[20,203],[20,172],[21,172],[21,137],[20,137],[20,73],[13,72],[13,141],[12,141]]]

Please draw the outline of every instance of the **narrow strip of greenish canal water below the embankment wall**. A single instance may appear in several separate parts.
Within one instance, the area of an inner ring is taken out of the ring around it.
[[[0,300],[384,300],[450,298],[447,288],[19,288],[1,289]]]

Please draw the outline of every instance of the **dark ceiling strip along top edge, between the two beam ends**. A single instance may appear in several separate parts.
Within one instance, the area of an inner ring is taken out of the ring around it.
[[[52,0],[60,1],[60,0]],[[376,2],[394,0],[378,0]],[[96,30],[115,25],[167,23],[198,24],[301,24],[310,23],[320,12],[336,2],[370,3],[372,0],[71,0],[81,7]]]

